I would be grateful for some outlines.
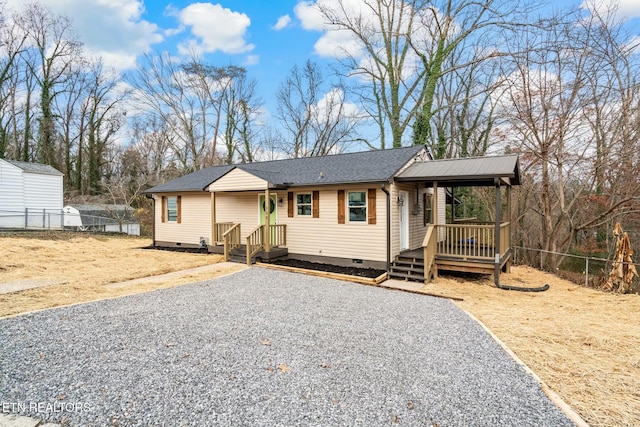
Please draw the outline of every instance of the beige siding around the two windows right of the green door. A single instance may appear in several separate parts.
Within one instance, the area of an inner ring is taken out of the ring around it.
[[[376,189],[376,224],[365,222],[350,223],[348,208],[345,207],[345,224],[338,224],[338,190],[345,190],[345,199],[349,191]],[[380,185],[359,185],[340,187],[295,188],[289,191],[310,193],[320,192],[320,217],[287,217],[287,204],[278,204],[278,222],[287,224],[287,247],[290,253],[385,261],[386,252],[386,195]],[[286,194],[281,195],[286,201]],[[295,196],[294,196],[295,200]]]

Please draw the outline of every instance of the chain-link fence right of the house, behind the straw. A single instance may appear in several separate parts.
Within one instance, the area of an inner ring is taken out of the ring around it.
[[[513,261],[515,264],[531,265],[532,267],[549,271],[577,284],[596,289],[603,287],[613,267],[613,261],[605,258],[524,248],[522,246],[514,246],[513,251]],[[544,254],[561,257],[561,262],[555,270],[549,267],[549,263],[545,259]],[[640,264],[638,263],[622,264],[634,265],[640,270]],[[631,284],[631,289],[633,293],[640,293],[640,279],[637,276]]]

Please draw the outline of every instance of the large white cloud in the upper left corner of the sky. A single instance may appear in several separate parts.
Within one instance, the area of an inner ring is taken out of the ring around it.
[[[20,11],[23,0],[5,0]],[[78,38],[92,56],[118,70],[135,66],[136,57],[160,43],[158,26],[142,19],[142,0],[47,0],[52,12],[72,20]]]

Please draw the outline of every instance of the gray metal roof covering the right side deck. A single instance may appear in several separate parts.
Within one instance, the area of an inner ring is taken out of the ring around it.
[[[520,166],[516,154],[416,162],[396,179],[464,187],[492,186],[495,178],[508,180],[511,185],[520,185]]]

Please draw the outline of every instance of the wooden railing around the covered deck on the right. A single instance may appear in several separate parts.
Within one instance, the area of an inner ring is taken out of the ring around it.
[[[436,254],[439,256],[494,260],[495,226],[491,224],[439,224]],[[500,225],[500,256],[511,246],[510,223]],[[426,241],[426,239],[425,239]]]

